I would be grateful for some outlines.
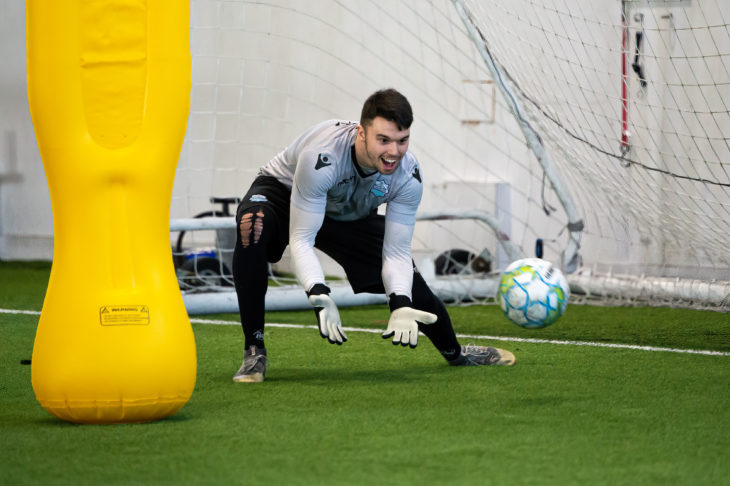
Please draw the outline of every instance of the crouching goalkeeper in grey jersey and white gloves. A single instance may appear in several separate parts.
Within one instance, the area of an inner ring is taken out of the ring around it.
[[[512,365],[509,351],[461,346],[444,304],[411,259],[423,192],[408,151],[413,114],[393,89],[371,95],[360,123],[328,120],[296,138],[260,171],[236,212],[233,278],[245,348],[236,382],[262,382],[267,356],[264,309],[268,263],[287,245],[294,273],[330,343],[347,336],[325,285],[318,248],[345,270],[356,293],[385,293],[390,320],[383,338],[416,347],[419,330],[451,365]],[[386,204],[385,216],[377,208]]]

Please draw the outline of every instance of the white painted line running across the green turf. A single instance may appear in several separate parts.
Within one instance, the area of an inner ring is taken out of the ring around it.
[[[40,315],[38,311],[26,311],[15,309],[0,309],[0,314],[27,314]],[[194,324],[213,324],[223,326],[240,326],[236,321],[223,321],[216,319],[190,319]],[[269,327],[283,327],[290,329],[317,329],[317,326],[307,326],[301,324],[281,324],[276,322],[267,322]],[[360,327],[344,327],[347,332],[369,332],[372,334],[380,334],[383,331],[378,329],[365,329]],[[678,348],[661,348],[657,346],[638,346],[635,344],[613,344],[613,343],[596,343],[591,341],[560,341],[557,339],[535,339],[535,338],[518,338],[505,336],[489,336],[480,334],[457,334],[457,337],[464,339],[485,339],[490,341],[508,341],[515,343],[531,343],[531,344],[557,344],[562,346],[587,346],[594,348],[614,348],[614,349],[631,349],[634,351],[652,351],[663,353],[680,353],[680,354],[702,354],[705,356],[730,356],[730,352],[725,351],[709,351],[704,349],[678,349]]]

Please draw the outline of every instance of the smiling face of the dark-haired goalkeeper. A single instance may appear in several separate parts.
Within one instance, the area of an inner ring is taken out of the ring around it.
[[[366,159],[358,162],[363,167],[381,174],[392,174],[408,150],[410,128],[398,130],[395,122],[375,117],[370,125],[357,127],[358,137],[364,142]]]

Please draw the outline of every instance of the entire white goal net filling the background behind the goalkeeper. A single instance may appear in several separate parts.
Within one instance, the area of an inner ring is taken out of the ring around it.
[[[521,256],[574,301],[730,309],[724,0],[191,1],[193,87],[171,243],[191,312],[232,311],[230,213],[299,132],[414,107],[413,255],[446,300],[494,297]],[[354,296],[322,256],[341,304]],[[306,306],[288,253],[267,307]]]

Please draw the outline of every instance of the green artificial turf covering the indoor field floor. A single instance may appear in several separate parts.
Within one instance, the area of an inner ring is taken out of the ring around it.
[[[47,279],[47,264],[0,263],[0,308],[39,311]],[[20,364],[38,315],[2,312],[0,484],[728,484],[730,315],[571,306],[525,331],[494,306],[450,311],[464,342],[510,349],[517,365],[451,368],[425,338],[410,350],[350,331],[338,347],[270,326],[267,381],[234,384],[240,328],[201,322],[190,402],[112,426],[38,405]],[[341,314],[368,329],[388,317]],[[268,320],[314,322],[311,311]]]

